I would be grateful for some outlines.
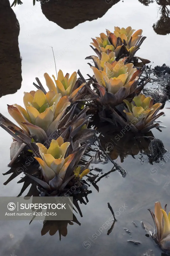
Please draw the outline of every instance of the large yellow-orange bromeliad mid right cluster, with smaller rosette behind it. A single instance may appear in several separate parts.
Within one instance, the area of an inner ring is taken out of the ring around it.
[[[113,108],[121,104],[124,99],[133,99],[141,92],[144,83],[140,86],[138,83],[143,69],[137,70],[133,67],[133,63],[125,64],[127,58],[114,60],[113,53],[110,53],[110,56],[102,53],[101,56],[101,61],[95,59],[97,67],[91,67],[100,93],[97,102]]]

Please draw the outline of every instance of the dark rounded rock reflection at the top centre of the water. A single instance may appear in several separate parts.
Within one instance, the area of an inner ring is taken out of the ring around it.
[[[120,0],[51,0],[41,4],[46,18],[64,29],[71,29],[87,20],[101,18]]]

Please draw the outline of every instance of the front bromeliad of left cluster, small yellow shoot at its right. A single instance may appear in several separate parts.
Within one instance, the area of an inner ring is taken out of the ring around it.
[[[48,149],[41,143],[36,143],[36,145],[41,156],[41,158],[35,157],[41,167],[41,179],[29,174],[26,175],[35,180],[40,185],[40,189],[47,194],[59,195],[63,193],[71,180],[73,183],[80,182],[80,179],[90,172],[88,168],[77,167],[88,144],[75,148],[77,143],[74,143],[72,154],[67,157],[66,152],[68,152],[70,143],[64,143],[61,136],[52,140]]]

